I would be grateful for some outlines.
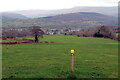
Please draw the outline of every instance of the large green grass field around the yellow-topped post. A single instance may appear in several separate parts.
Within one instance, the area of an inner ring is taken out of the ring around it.
[[[68,78],[71,49],[77,78],[118,77],[117,41],[64,35],[41,40],[55,43],[3,45],[3,78]]]

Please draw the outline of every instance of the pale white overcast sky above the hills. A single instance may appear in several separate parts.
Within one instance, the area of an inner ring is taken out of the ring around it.
[[[19,10],[55,10],[76,6],[111,7],[119,0],[0,0],[0,12]]]

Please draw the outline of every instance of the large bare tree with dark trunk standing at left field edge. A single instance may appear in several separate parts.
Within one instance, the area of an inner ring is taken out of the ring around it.
[[[44,34],[43,30],[41,29],[40,26],[33,26],[31,31],[32,31],[32,35],[35,38],[35,42],[38,43],[39,37],[43,37]]]

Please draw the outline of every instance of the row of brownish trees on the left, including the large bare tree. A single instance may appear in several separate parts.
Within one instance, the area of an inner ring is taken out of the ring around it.
[[[44,31],[39,26],[33,26],[28,30],[2,30],[2,39],[7,38],[16,38],[16,37],[26,37],[26,36],[34,36],[35,42],[39,42],[39,37],[43,37]]]

